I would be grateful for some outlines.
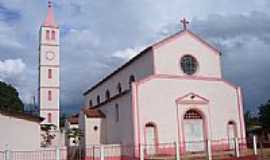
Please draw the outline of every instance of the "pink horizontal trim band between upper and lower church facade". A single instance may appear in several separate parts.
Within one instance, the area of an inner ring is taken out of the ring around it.
[[[203,80],[203,81],[220,81],[220,82],[224,82],[225,84],[229,85],[230,87],[236,89],[237,87],[233,84],[231,84],[230,82],[222,79],[222,78],[218,78],[218,77],[202,77],[202,76],[177,76],[177,75],[168,75],[168,74],[155,74],[155,75],[150,75],[144,79],[141,79],[139,81],[137,81],[137,83],[143,84],[146,83],[147,81],[150,81],[152,79],[179,79],[179,80]]]

